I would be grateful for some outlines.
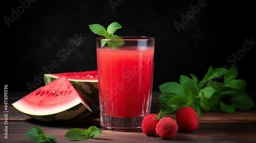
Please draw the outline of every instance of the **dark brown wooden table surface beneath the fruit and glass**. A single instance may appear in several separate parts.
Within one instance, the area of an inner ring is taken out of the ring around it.
[[[159,111],[158,96],[158,92],[153,94],[152,112],[155,113]],[[99,124],[98,114],[90,115],[76,123],[41,123],[11,106],[11,103],[19,99],[15,97],[15,93],[12,96],[9,94],[8,97],[8,139],[4,138],[6,118],[4,117],[4,102],[2,98],[0,109],[3,115],[0,118],[0,142],[34,142],[26,137],[27,131],[33,126],[40,126],[46,135],[55,136],[57,142],[256,142],[256,108],[247,111],[236,110],[233,114],[217,111],[202,113],[199,116],[197,131],[193,133],[178,132],[173,139],[163,140],[159,137],[148,137],[142,132],[119,132],[102,129]],[[167,116],[175,119],[175,114],[168,114]],[[70,141],[64,136],[69,129],[87,129],[90,126],[99,127],[102,130],[102,134],[96,139],[83,141]]]

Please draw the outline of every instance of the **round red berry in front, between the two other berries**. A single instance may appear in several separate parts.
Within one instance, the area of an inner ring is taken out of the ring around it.
[[[163,117],[157,123],[156,133],[162,139],[172,139],[178,132],[178,125],[171,117]]]

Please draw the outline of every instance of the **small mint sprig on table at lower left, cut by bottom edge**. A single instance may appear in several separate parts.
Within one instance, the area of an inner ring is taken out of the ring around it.
[[[34,126],[30,128],[26,136],[32,140],[35,140],[36,143],[42,143],[42,142],[55,143],[56,142],[56,139],[54,136],[45,135],[44,131],[42,131],[39,126]]]

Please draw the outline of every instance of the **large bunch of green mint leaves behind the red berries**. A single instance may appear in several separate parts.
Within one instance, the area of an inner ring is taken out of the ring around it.
[[[189,106],[197,115],[202,111],[224,111],[234,113],[236,108],[248,110],[254,107],[252,98],[246,93],[246,81],[237,79],[236,66],[229,69],[210,66],[201,81],[193,74],[181,75],[178,82],[166,82],[159,86],[160,109],[164,113],[175,113]]]

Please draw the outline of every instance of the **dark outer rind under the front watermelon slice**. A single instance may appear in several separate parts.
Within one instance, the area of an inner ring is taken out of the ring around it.
[[[51,114],[51,115],[27,114],[27,115],[41,122],[63,123],[63,122],[79,121],[91,114],[92,112],[86,106],[84,106],[82,103],[79,103],[68,110],[65,110],[56,114]]]

